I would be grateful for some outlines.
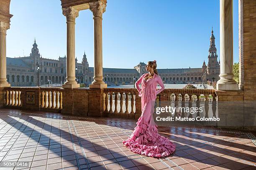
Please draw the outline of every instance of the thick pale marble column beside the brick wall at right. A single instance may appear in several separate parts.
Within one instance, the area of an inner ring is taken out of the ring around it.
[[[218,90],[238,90],[233,79],[233,0],[220,0],[220,80]]]

